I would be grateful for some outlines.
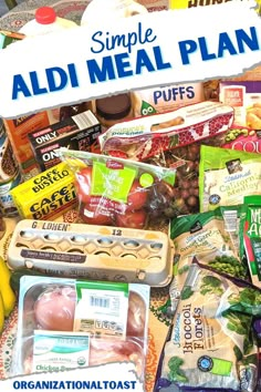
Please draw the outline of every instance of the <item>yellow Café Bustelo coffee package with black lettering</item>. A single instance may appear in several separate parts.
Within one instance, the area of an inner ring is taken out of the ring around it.
[[[25,180],[10,193],[22,218],[52,220],[76,203],[74,174],[64,162]]]

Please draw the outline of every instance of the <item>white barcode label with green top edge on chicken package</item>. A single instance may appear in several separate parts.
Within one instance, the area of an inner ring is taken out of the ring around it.
[[[74,331],[126,337],[128,283],[77,281],[76,292]]]

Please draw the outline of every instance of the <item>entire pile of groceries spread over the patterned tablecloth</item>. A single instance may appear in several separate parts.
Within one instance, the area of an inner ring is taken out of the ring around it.
[[[29,30],[1,32],[2,50]],[[1,331],[18,310],[10,376],[127,361],[145,383],[150,289],[164,288],[155,392],[260,390],[261,81],[149,87],[1,125],[2,236],[17,219],[0,260]]]

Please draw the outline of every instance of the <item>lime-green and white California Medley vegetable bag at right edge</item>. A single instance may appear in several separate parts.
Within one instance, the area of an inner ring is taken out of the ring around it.
[[[201,145],[199,163],[200,212],[239,205],[261,189],[261,154]]]

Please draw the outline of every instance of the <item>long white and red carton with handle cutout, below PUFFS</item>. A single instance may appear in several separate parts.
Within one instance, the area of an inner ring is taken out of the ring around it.
[[[220,102],[200,102],[168,113],[118,123],[98,140],[102,152],[119,152],[133,161],[144,161],[164,151],[181,147],[227,131],[233,109]]]

